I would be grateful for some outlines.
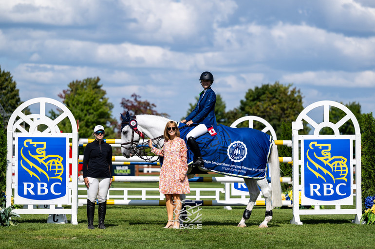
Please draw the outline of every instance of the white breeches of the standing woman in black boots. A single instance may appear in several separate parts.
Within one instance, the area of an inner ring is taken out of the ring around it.
[[[87,199],[91,202],[95,202],[97,197],[99,203],[105,202],[107,200],[111,178],[87,177],[87,179],[90,183],[89,188],[87,188]]]

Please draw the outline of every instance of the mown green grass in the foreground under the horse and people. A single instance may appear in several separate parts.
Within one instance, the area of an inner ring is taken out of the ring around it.
[[[264,211],[255,207],[247,227],[238,228],[244,207],[203,207],[201,230],[163,229],[165,207],[108,206],[105,230],[87,229],[85,207],[78,208],[78,225],[21,215],[18,226],[0,227],[0,248],[374,248],[375,226],[352,224],[353,215],[300,216],[298,226],[289,223],[292,209],[281,208],[273,211],[269,228],[260,229]]]

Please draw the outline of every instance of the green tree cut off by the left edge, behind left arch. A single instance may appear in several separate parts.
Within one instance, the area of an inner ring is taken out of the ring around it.
[[[10,72],[1,70],[0,67],[0,114],[4,119],[4,127],[8,124],[9,117],[21,103],[17,83],[13,81]]]

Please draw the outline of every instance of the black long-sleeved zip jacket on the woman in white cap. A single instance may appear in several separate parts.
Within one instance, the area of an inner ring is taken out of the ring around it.
[[[83,152],[83,178],[112,178],[112,146],[96,139]]]

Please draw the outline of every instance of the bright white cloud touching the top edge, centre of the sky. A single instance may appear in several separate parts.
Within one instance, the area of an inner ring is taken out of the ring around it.
[[[192,42],[209,39],[207,34],[218,22],[233,14],[237,5],[232,0],[122,0],[128,25],[143,41]],[[186,40],[189,39],[189,40]]]

